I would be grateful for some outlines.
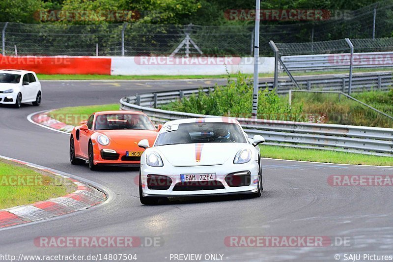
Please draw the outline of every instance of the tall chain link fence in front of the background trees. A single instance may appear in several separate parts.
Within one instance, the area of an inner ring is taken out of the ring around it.
[[[252,22],[252,21],[251,21]],[[287,45],[288,54],[346,52],[343,38],[367,39],[354,45],[362,51],[391,51],[393,48],[393,0],[381,1],[325,21],[261,21],[260,55],[272,56],[269,41],[302,43]],[[252,56],[252,25],[196,26],[140,23],[64,25],[60,23],[0,23],[2,54],[42,56],[168,56],[187,35],[207,56]],[[330,41],[329,45],[319,42]],[[184,56],[185,46],[177,55]],[[296,50],[295,50],[296,49]],[[283,50],[280,48],[280,50]],[[283,51],[284,52],[284,51]],[[360,52],[360,50],[355,50]],[[190,47],[191,55],[198,54]]]

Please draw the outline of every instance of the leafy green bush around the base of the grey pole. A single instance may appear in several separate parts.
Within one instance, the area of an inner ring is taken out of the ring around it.
[[[227,86],[216,86],[208,94],[199,91],[182,101],[161,106],[164,110],[188,112],[214,116],[252,116],[253,85],[245,75],[238,74],[236,80],[228,79]],[[290,107],[276,90],[259,90],[258,118],[305,121],[303,105]]]

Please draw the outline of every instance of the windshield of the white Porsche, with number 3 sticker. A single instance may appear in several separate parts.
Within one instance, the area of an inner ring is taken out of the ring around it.
[[[154,146],[191,143],[247,143],[247,140],[237,124],[185,123],[163,127]]]

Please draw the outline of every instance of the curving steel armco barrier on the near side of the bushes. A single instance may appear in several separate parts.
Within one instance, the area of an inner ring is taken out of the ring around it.
[[[209,92],[211,88],[203,88]],[[206,117],[199,114],[166,111],[157,105],[181,99],[198,89],[143,93],[120,99],[122,110],[141,111],[155,123],[168,120]],[[209,116],[220,117],[220,116]],[[393,157],[393,129],[336,124],[317,124],[281,120],[237,118],[249,136],[262,135],[267,145],[319,148]]]

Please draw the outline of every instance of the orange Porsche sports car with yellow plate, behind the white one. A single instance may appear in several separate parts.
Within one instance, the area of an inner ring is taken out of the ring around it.
[[[153,145],[162,125],[156,128],[142,112],[107,111],[91,115],[71,133],[70,161],[89,163],[90,170],[101,165],[139,166],[144,149],[138,142]]]

